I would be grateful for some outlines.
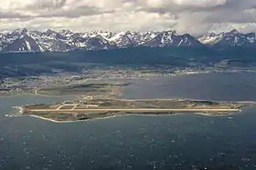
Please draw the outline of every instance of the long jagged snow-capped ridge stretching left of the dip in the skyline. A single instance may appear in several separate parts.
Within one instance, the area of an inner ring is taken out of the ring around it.
[[[0,33],[0,51],[5,52],[101,50],[132,46],[195,47],[202,44],[191,35],[177,35],[175,31],[73,33],[69,30],[39,32],[25,28]]]

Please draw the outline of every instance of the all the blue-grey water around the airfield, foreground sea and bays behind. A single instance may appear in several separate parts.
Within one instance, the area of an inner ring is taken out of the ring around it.
[[[150,84],[145,81],[128,86],[136,90],[126,96],[256,100],[255,77],[185,75],[165,77],[163,82],[157,78]],[[151,94],[138,95],[138,84],[141,91]],[[192,85],[187,87],[193,89],[191,93],[184,91],[184,84]],[[208,88],[215,89],[212,95]],[[0,170],[256,169],[256,107],[227,116],[127,115],[67,124],[29,116],[5,117],[14,111],[14,105],[62,100],[40,95],[0,97]]]

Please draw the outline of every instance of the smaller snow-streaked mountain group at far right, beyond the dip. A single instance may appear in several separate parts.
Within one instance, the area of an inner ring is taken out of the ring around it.
[[[255,33],[241,34],[237,30],[231,30],[228,33],[209,33],[198,40],[205,45],[212,47],[229,47],[229,46],[251,46],[256,45]]]

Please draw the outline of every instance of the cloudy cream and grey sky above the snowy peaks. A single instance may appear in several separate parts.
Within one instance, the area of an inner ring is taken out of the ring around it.
[[[256,0],[1,0],[0,30],[256,31]]]

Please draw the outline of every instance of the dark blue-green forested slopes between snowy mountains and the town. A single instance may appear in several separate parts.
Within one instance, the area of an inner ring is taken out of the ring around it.
[[[133,47],[100,51],[72,51],[53,53],[0,54],[0,78],[10,76],[52,73],[53,69],[81,72],[83,69],[110,65],[142,67],[168,65],[173,67],[217,66],[255,67],[256,49],[250,47],[226,48],[215,51],[208,48]],[[226,63],[223,61],[226,61]],[[155,71],[143,71],[155,73]]]

